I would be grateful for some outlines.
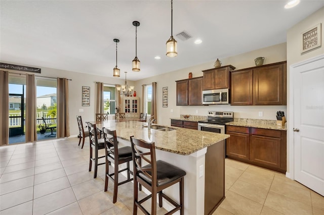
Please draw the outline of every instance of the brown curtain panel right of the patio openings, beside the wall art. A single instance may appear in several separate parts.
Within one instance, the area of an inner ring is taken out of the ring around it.
[[[68,94],[68,80],[57,78],[57,138],[70,136]]]

